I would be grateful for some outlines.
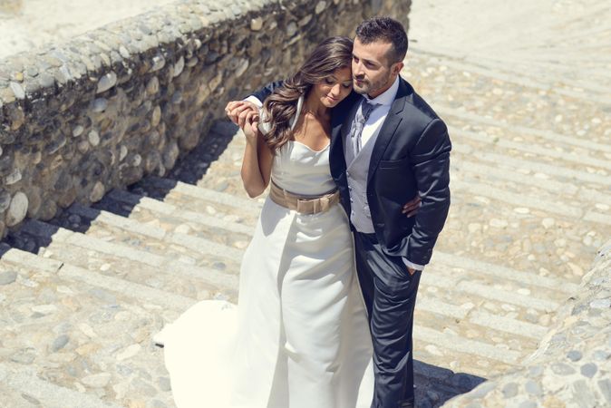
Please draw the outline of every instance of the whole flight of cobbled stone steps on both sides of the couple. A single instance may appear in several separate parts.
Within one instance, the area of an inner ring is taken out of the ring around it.
[[[460,17],[490,9],[483,0],[434,3],[442,13],[432,1],[414,5],[418,42],[404,70],[454,146],[451,213],[416,306],[422,406],[533,353],[611,235],[611,53],[608,25],[596,24],[609,7],[541,2],[532,12],[553,15],[535,24],[518,13],[522,0],[477,22]],[[173,406],[150,337],[199,299],[237,298],[262,201],[242,190],[243,148],[219,121],[166,178],[28,221],[2,244],[0,401]]]

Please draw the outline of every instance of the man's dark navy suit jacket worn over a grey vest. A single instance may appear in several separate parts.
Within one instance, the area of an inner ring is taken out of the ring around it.
[[[270,83],[253,93],[264,101],[282,83]],[[350,214],[344,141],[350,130],[349,114],[361,96],[352,92],[332,112],[331,175],[341,203]],[[450,151],[448,129],[432,108],[399,79],[399,91],[375,145],[367,178],[367,201],[378,242],[389,256],[406,257],[426,265],[450,208]],[[402,206],[416,194],[422,207],[407,218]]]

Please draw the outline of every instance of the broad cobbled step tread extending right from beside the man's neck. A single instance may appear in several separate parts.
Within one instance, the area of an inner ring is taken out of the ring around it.
[[[608,145],[604,135],[608,127],[604,106],[608,102],[602,96],[589,98],[588,93],[586,100],[559,95],[554,91],[556,87],[546,91],[530,84],[490,79],[480,73],[452,69],[445,61],[417,54],[403,73],[416,91],[432,102],[433,109],[439,104],[441,110],[451,108],[511,126]],[[448,123],[451,125],[452,121]]]

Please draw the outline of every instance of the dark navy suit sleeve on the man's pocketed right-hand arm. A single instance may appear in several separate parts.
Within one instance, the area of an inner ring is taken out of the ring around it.
[[[422,131],[411,153],[412,171],[422,206],[415,215],[407,253],[412,263],[426,265],[431,260],[450,209],[450,151],[448,128],[440,119],[432,120]]]

